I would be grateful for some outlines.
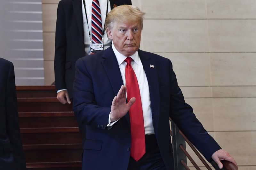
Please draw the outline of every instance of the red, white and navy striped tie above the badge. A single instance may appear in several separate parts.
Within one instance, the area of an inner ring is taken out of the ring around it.
[[[102,43],[102,22],[100,13],[100,3],[92,0],[92,43]]]

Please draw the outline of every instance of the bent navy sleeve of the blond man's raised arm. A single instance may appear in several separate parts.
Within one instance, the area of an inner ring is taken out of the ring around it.
[[[105,129],[111,108],[97,105],[94,97],[94,91],[97,91],[97,89],[93,86],[93,78],[82,58],[76,62],[73,90],[73,109],[78,122]]]

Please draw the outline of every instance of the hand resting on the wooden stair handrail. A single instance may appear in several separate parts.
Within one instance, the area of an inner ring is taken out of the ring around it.
[[[212,154],[212,159],[218,164],[219,168],[222,169],[223,165],[220,162],[221,160],[227,160],[229,162],[232,162],[236,168],[238,168],[237,163],[234,158],[232,158],[228,152],[220,149]]]

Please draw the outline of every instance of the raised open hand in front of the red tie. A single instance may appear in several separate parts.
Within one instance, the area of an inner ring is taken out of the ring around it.
[[[126,86],[122,85],[112,101],[110,113],[111,122],[114,122],[126,115],[134,102],[135,97],[131,98],[126,104]]]

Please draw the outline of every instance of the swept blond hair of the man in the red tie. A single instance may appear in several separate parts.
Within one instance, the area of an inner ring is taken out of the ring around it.
[[[107,15],[105,29],[112,28],[114,22],[131,22],[140,21],[141,30],[143,29],[143,19],[145,12],[133,5],[120,5],[113,8]]]

